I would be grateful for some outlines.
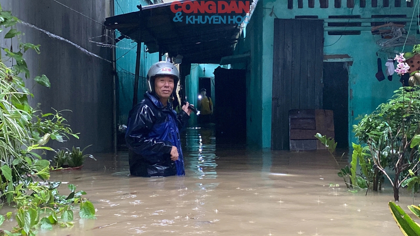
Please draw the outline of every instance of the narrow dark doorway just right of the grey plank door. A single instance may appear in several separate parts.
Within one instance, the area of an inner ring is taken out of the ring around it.
[[[348,147],[348,69],[347,62],[323,63],[322,108],[334,113],[337,147]]]

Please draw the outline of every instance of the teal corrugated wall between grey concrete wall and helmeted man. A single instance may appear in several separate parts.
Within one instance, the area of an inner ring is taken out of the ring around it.
[[[147,5],[144,0],[115,0],[115,15],[137,11],[136,5]],[[118,37],[119,34],[116,34]],[[137,43],[131,39],[124,38],[117,42],[115,50],[116,70],[118,74],[118,119],[119,124],[126,124],[128,112],[132,107],[132,97],[134,91],[135,57],[137,53]],[[140,72],[138,82],[138,101],[143,98],[147,90],[146,75],[150,66],[159,60],[159,53],[146,52],[146,46],[141,43]]]

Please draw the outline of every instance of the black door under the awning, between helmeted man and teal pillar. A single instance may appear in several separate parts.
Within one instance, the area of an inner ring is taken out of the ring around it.
[[[246,80],[244,69],[214,70],[216,143],[246,143]]]

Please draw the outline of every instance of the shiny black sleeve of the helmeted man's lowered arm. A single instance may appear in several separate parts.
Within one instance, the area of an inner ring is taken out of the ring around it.
[[[172,149],[170,141],[148,136],[156,121],[151,107],[144,103],[139,103],[136,106],[136,109],[132,109],[132,112],[136,112],[136,114],[132,113],[128,116],[127,131],[125,133],[128,147],[140,155],[170,153]]]

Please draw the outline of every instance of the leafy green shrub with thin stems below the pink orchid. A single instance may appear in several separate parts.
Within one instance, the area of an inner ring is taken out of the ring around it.
[[[394,93],[392,99],[353,125],[353,131],[359,142],[367,145],[367,156],[373,163],[373,190],[381,173],[391,182],[397,201],[401,183],[419,166],[420,89],[401,87]],[[393,179],[387,169],[394,171]]]

